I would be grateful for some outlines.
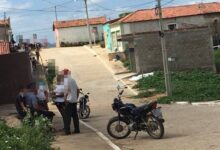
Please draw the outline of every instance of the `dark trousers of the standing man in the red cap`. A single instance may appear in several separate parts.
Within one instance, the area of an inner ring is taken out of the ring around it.
[[[77,103],[67,103],[65,107],[65,132],[70,132],[71,118],[73,118],[73,124],[75,132],[79,132],[79,117],[77,114]]]

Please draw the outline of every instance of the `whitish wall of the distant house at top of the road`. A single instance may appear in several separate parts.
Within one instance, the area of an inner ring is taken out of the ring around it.
[[[103,26],[102,25],[90,25],[91,33],[92,33],[93,27],[97,27],[97,30],[98,30],[98,37],[96,38],[96,40],[102,40]],[[87,26],[60,28],[58,29],[58,35],[59,35],[59,38],[58,38],[59,43],[61,42],[64,42],[64,43],[89,42]],[[94,41],[93,33],[92,33],[92,41]]]

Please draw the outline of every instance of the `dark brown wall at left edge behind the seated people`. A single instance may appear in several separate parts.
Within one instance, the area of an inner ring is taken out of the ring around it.
[[[13,104],[20,86],[31,83],[29,55],[11,53],[0,55],[0,105]]]

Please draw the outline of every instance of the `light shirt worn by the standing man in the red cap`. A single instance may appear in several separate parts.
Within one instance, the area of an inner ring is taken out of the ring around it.
[[[76,81],[71,77],[65,77],[65,78],[64,78],[64,86],[65,86],[65,94],[67,94],[66,100],[69,103],[77,103],[78,86],[76,84]]]

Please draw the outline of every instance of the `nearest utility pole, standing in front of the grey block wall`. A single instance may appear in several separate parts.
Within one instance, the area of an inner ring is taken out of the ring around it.
[[[165,34],[164,34],[164,29],[163,29],[161,0],[157,0],[157,9],[158,9],[158,15],[159,15],[160,39],[161,39],[161,48],[162,48],[162,57],[163,57],[163,68],[164,68],[164,76],[165,76],[166,94],[167,94],[167,96],[172,96],[171,80],[170,80],[167,50],[166,50],[166,42],[165,42],[165,37],[164,37]]]

